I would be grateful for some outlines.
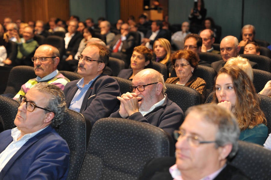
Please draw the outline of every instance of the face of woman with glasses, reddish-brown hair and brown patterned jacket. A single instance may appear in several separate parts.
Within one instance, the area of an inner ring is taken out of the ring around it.
[[[178,66],[178,67],[177,67]],[[175,72],[178,78],[190,78],[192,76],[192,71],[194,68],[190,65],[190,63],[184,59],[176,59],[175,61]]]

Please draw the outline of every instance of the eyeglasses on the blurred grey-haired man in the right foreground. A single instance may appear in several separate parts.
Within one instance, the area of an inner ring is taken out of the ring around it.
[[[175,130],[173,132],[173,135],[174,135],[174,138],[178,141],[179,138],[185,137],[185,132],[183,132],[182,130]],[[188,141],[189,145],[192,145],[192,146],[198,146],[200,144],[216,143],[216,141],[200,141],[197,135],[187,136],[186,141]]]

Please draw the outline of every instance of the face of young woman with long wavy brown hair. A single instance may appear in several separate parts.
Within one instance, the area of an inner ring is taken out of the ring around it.
[[[216,78],[216,97],[218,102],[229,101],[235,106],[236,94],[230,75],[221,73]]]

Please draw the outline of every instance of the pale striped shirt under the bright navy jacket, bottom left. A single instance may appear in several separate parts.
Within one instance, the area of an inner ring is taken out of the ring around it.
[[[48,127],[48,126],[46,126]],[[45,127],[45,128],[46,128]],[[20,135],[21,131],[18,130],[17,127],[13,128],[11,130],[11,136],[13,138],[13,141],[6,147],[4,151],[0,154],[0,172],[5,167],[5,165],[8,163],[8,161],[11,159],[11,157],[14,156],[14,154],[30,139],[36,136],[39,132],[44,130],[45,128],[38,130],[34,133],[25,134],[21,139],[17,140]]]

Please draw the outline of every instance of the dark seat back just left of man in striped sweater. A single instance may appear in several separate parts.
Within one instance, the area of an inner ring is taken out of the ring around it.
[[[4,94],[13,94],[14,96],[19,92],[21,86],[29,79],[36,78],[34,68],[31,66],[15,66],[11,69],[7,87]]]

